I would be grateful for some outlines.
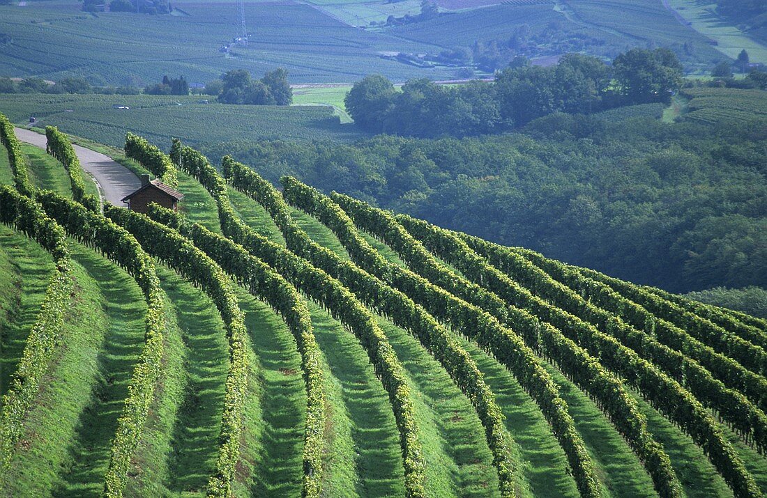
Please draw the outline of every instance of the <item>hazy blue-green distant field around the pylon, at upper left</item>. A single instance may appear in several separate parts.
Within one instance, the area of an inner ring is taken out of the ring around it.
[[[249,47],[224,54],[219,48],[240,34],[236,2],[174,2],[173,7],[185,15],[91,15],[74,0],[0,5],[0,33],[12,38],[2,50],[0,74],[140,86],[159,82],[163,74],[204,84],[239,67],[259,77],[285,67],[294,83],[352,82],[371,72],[395,80],[453,74],[378,57],[379,51],[427,51],[429,44],[367,31],[357,38],[356,28],[310,5],[281,2],[246,2],[252,40]]]

